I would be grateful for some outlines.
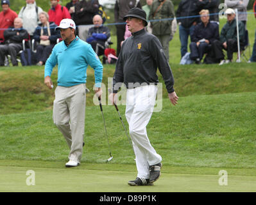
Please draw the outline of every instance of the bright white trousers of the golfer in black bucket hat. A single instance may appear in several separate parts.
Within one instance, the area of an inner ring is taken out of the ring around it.
[[[136,157],[137,177],[149,178],[149,165],[162,161],[149,142],[146,131],[157,96],[156,85],[140,86],[127,89],[126,94],[126,119],[129,124],[133,150]]]

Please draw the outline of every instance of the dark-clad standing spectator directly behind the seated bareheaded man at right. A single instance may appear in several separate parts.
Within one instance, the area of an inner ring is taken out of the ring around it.
[[[198,6],[209,10],[210,21],[219,22],[219,0],[199,0]]]

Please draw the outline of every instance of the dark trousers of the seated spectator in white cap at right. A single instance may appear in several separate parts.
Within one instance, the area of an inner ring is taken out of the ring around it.
[[[232,60],[233,59],[233,53],[238,51],[238,47],[237,47],[237,40],[234,39],[228,39],[226,41],[226,54],[227,54],[227,58],[228,60]],[[219,42],[219,40],[215,40],[212,44],[212,48],[214,49],[214,53],[217,59],[219,60],[223,60],[224,59],[224,54],[222,49],[224,49],[223,44],[221,44],[221,42]],[[243,44],[240,43],[240,51],[242,51],[244,49]]]

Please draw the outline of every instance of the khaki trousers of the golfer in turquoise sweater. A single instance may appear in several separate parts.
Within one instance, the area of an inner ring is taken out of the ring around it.
[[[53,122],[69,146],[69,160],[80,163],[85,130],[85,84],[57,86],[53,102]]]

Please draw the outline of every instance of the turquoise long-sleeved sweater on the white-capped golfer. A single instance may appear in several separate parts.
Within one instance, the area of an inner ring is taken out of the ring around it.
[[[69,44],[62,41],[53,47],[53,51],[46,61],[44,78],[51,76],[55,65],[58,65],[58,86],[74,86],[86,83],[87,67],[94,69],[96,87],[101,87],[103,66],[90,44],[76,37]]]

